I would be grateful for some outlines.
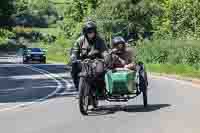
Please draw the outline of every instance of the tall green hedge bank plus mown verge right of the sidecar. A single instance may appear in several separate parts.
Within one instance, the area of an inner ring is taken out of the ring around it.
[[[199,43],[199,40],[146,40],[137,47],[137,58],[151,72],[200,78]]]

